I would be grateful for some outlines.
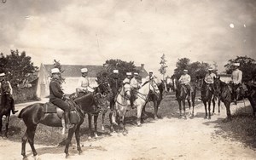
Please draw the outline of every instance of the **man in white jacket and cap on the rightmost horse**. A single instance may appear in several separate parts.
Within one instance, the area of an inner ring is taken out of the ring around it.
[[[241,78],[242,78],[242,71],[239,70],[240,63],[234,63],[234,71],[231,74],[232,79],[232,100],[235,101],[239,98],[241,93]]]

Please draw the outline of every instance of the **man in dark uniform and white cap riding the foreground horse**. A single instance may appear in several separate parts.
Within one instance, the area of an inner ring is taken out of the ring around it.
[[[71,124],[69,120],[70,106],[65,101],[70,99],[66,94],[64,94],[63,90],[61,89],[61,72],[58,68],[54,68],[51,70],[51,74],[52,79],[49,83],[49,102],[51,102],[55,106],[60,107],[64,111],[66,128],[71,129],[74,125]]]

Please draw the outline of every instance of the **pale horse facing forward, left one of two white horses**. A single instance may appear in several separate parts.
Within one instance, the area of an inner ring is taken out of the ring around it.
[[[130,84],[125,84],[121,89],[119,89],[118,94],[116,94],[114,100],[114,109],[112,122],[115,125],[123,123],[123,133],[125,134],[125,114],[128,110],[128,106],[131,106],[131,86]],[[116,120],[117,122],[116,123]],[[112,125],[112,124],[111,124]]]

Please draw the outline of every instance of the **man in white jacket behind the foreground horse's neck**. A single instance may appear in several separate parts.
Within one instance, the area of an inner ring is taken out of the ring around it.
[[[81,69],[82,77],[79,77],[79,83],[78,88],[76,89],[77,96],[79,95],[79,92],[93,92],[94,89],[90,88],[90,81],[88,78],[88,69],[82,68]]]

